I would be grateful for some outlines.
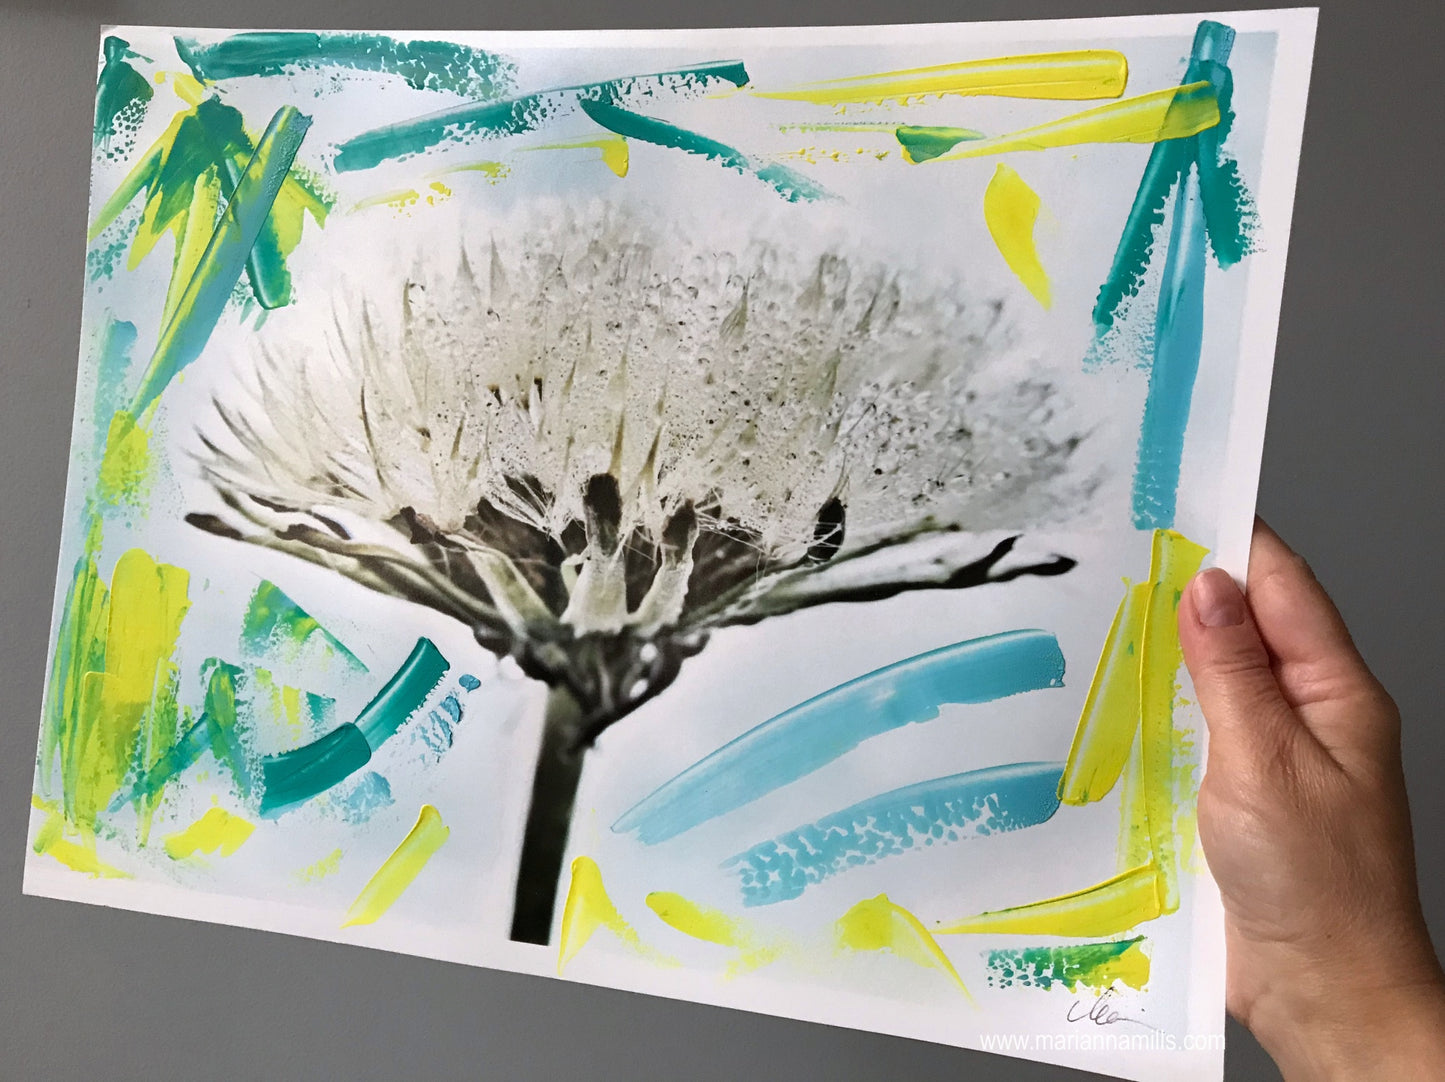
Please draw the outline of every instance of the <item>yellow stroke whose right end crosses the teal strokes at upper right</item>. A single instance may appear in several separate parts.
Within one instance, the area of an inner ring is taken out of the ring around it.
[[[929,162],[958,162],[965,157],[1003,155],[1013,150],[1048,150],[1079,143],[1159,143],[1192,136],[1220,123],[1220,103],[1208,82],[1156,90],[1098,108],[1084,110],[1048,124],[993,139],[961,143]],[[907,147],[903,156],[909,156]]]

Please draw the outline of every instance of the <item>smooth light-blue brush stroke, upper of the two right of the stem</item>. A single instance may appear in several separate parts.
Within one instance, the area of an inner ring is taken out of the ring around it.
[[[1003,631],[931,650],[769,718],[662,784],[613,831],[636,831],[653,845],[796,782],[871,737],[932,721],[945,704],[1062,686],[1064,652],[1048,631]]]

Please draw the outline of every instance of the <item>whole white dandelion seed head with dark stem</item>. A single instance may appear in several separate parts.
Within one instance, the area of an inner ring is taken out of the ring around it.
[[[488,233],[267,344],[202,423],[227,511],[189,520],[457,617],[553,689],[513,927],[545,942],[585,747],[711,631],[1065,572],[972,534],[1088,478],[1068,403],[958,283],[604,208]]]

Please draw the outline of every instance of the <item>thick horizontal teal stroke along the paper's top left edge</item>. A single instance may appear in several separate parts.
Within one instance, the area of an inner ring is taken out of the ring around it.
[[[384,33],[259,30],[212,45],[176,38],[176,53],[201,82],[296,69],[348,68],[400,75],[416,90],[497,98],[512,90],[512,61],[457,42],[399,42]]]

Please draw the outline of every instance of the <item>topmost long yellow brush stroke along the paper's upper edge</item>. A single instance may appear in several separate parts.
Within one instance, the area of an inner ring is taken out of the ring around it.
[[[991,94],[1007,98],[1079,101],[1117,98],[1129,81],[1129,61],[1113,49],[997,56],[929,68],[884,71],[785,90],[754,90],[760,98],[815,105],[881,104],[942,94]]]

